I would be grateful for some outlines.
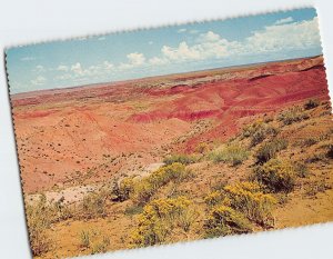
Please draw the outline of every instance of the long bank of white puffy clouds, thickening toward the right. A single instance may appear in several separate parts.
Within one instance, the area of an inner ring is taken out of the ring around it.
[[[179,29],[183,32],[190,32]],[[59,79],[75,81],[84,78],[110,78],[120,71],[131,69],[149,69],[155,66],[171,66],[172,63],[196,62],[209,60],[223,60],[251,54],[270,54],[290,50],[306,50],[320,46],[317,18],[294,22],[285,18],[278,20],[274,24],[253,31],[251,36],[242,40],[233,41],[223,38],[221,34],[209,30],[195,34],[191,41],[183,40],[176,46],[164,44],[160,52],[152,57],[145,57],[141,52],[131,52],[125,56],[127,60],[120,63],[112,63],[108,60],[101,63],[83,67],[80,62],[71,66],[60,64]],[[37,83],[42,80],[37,80]]]

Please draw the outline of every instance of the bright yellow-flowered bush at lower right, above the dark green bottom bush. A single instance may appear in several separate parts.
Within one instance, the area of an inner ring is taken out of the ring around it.
[[[272,209],[276,203],[272,195],[263,193],[256,182],[239,182],[224,187],[230,199],[230,206],[243,212],[248,219],[262,226],[272,226]]]

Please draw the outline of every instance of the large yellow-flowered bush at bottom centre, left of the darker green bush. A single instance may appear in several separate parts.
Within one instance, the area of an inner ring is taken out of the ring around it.
[[[194,217],[191,215],[192,202],[184,197],[158,199],[149,202],[139,216],[138,228],[130,236],[133,247],[162,243],[176,227],[189,231]]]

